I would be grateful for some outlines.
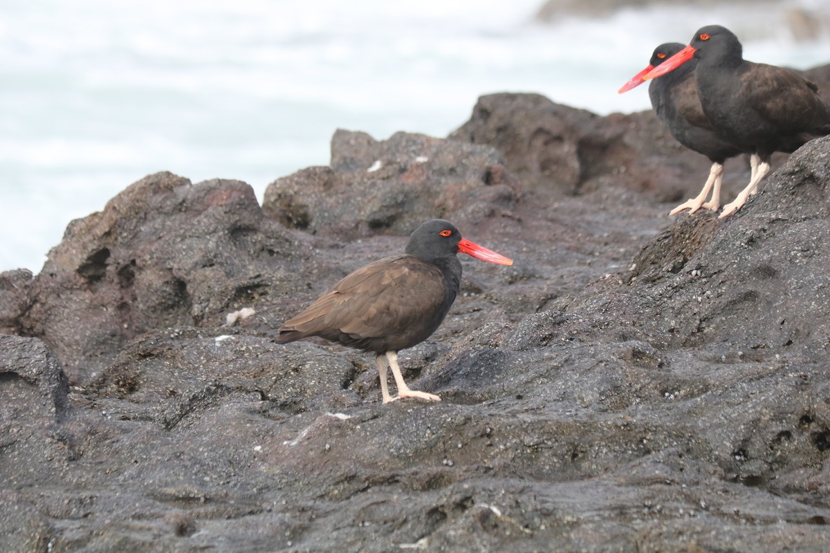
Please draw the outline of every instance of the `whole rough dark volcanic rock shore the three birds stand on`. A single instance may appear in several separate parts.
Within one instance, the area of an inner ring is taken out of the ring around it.
[[[448,140],[339,131],[262,209],[159,173],[74,222],[0,274],[0,550],[827,551],[830,138],[669,218],[708,163],[652,119],[492,95]],[[271,341],[430,216],[515,260],[462,256],[401,353],[442,403]]]

